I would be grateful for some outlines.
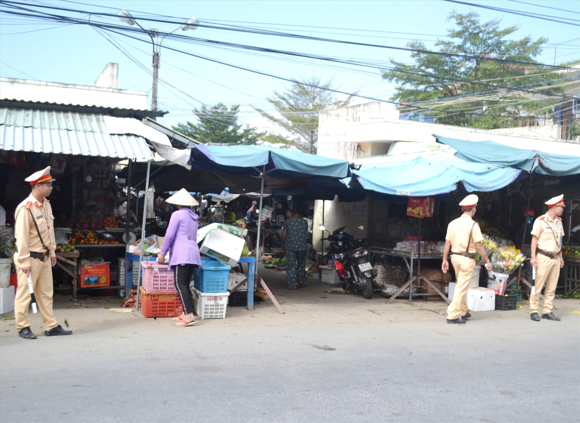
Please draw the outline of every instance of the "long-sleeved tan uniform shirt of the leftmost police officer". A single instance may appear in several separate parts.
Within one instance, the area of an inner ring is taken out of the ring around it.
[[[32,211],[32,216],[26,208]],[[30,267],[30,252],[44,253],[38,232],[32,222],[32,217],[37,222],[38,230],[42,236],[46,247],[50,249],[50,256],[55,257],[55,216],[52,215],[50,201],[44,198],[43,203],[30,194],[26,200],[16,207],[16,223],[14,223],[14,238],[16,238],[16,253],[14,253],[14,263],[19,262],[20,267]]]

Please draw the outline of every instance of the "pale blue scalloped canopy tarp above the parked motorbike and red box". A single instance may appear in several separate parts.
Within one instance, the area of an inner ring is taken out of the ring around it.
[[[378,193],[426,197],[454,191],[459,181],[467,191],[494,191],[503,188],[521,173],[520,169],[418,157],[409,161],[391,162],[383,167],[354,171],[351,187],[360,184]]]

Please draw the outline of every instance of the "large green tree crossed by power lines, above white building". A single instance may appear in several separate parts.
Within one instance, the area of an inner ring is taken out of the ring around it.
[[[454,10],[448,16],[448,20],[455,21],[456,27],[448,30],[449,41],[436,42],[438,51],[474,57],[414,52],[411,57],[415,64],[412,65],[391,59],[393,69],[385,70],[383,73],[383,79],[397,84],[396,94],[391,100],[426,107],[430,109],[430,115],[437,117],[438,123],[484,129],[516,126],[518,122],[513,117],[550,113],[553,104],[561,101],[561,97],[532,95],[494,86],[486,87],[423,75],[440,75],[509,87],[527,85],[524,87],[527,89],[556,84],[546,81],[562,78],[559,73],[534,66],[538,63],[535,58],[542,52],[542,44],[548,39],[538,38],[535,41],[531,37],[520,40],[507,39],[517,31],[517,26],[502,29],[499,26],[501,23],[499,19],[480,23],[479,15],[475,12],[461,14]],[[407,46],[428,50],[419,41],[409,42]],[[490,59],[512,60],[530,65]],[[539,84],[540,82],[542,84]],[[554,87],[550,87],[549,90],[561,91],[560,88]],[[541,91],[546,92],[545,89]],[[455,98],[444,100],[447,97]],[[423,111],[423,114],[426,115],[427,111]]]

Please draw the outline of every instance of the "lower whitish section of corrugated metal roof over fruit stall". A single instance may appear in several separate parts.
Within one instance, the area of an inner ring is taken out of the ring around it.
[[[24,126],[0,125],[0,150],[154,160],[141,136]]]

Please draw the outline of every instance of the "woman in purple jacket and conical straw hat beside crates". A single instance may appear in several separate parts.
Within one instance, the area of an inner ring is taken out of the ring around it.
[[[201,266],[200,249],[197,247],[197,219],[199,218],[191,206],[198,205],[190,193],[182,188],[173,194],[166,203],[175,204],[177,211],[169,219],[165,240],[161,252],[157,255],[158,262],[165,261],[169,252],[169,267],[173,269],[174,284],[183,305],[183,314],[175,317],[176,327],[193,326],[195,316],[191,302],[190,282],[195,267]]]

